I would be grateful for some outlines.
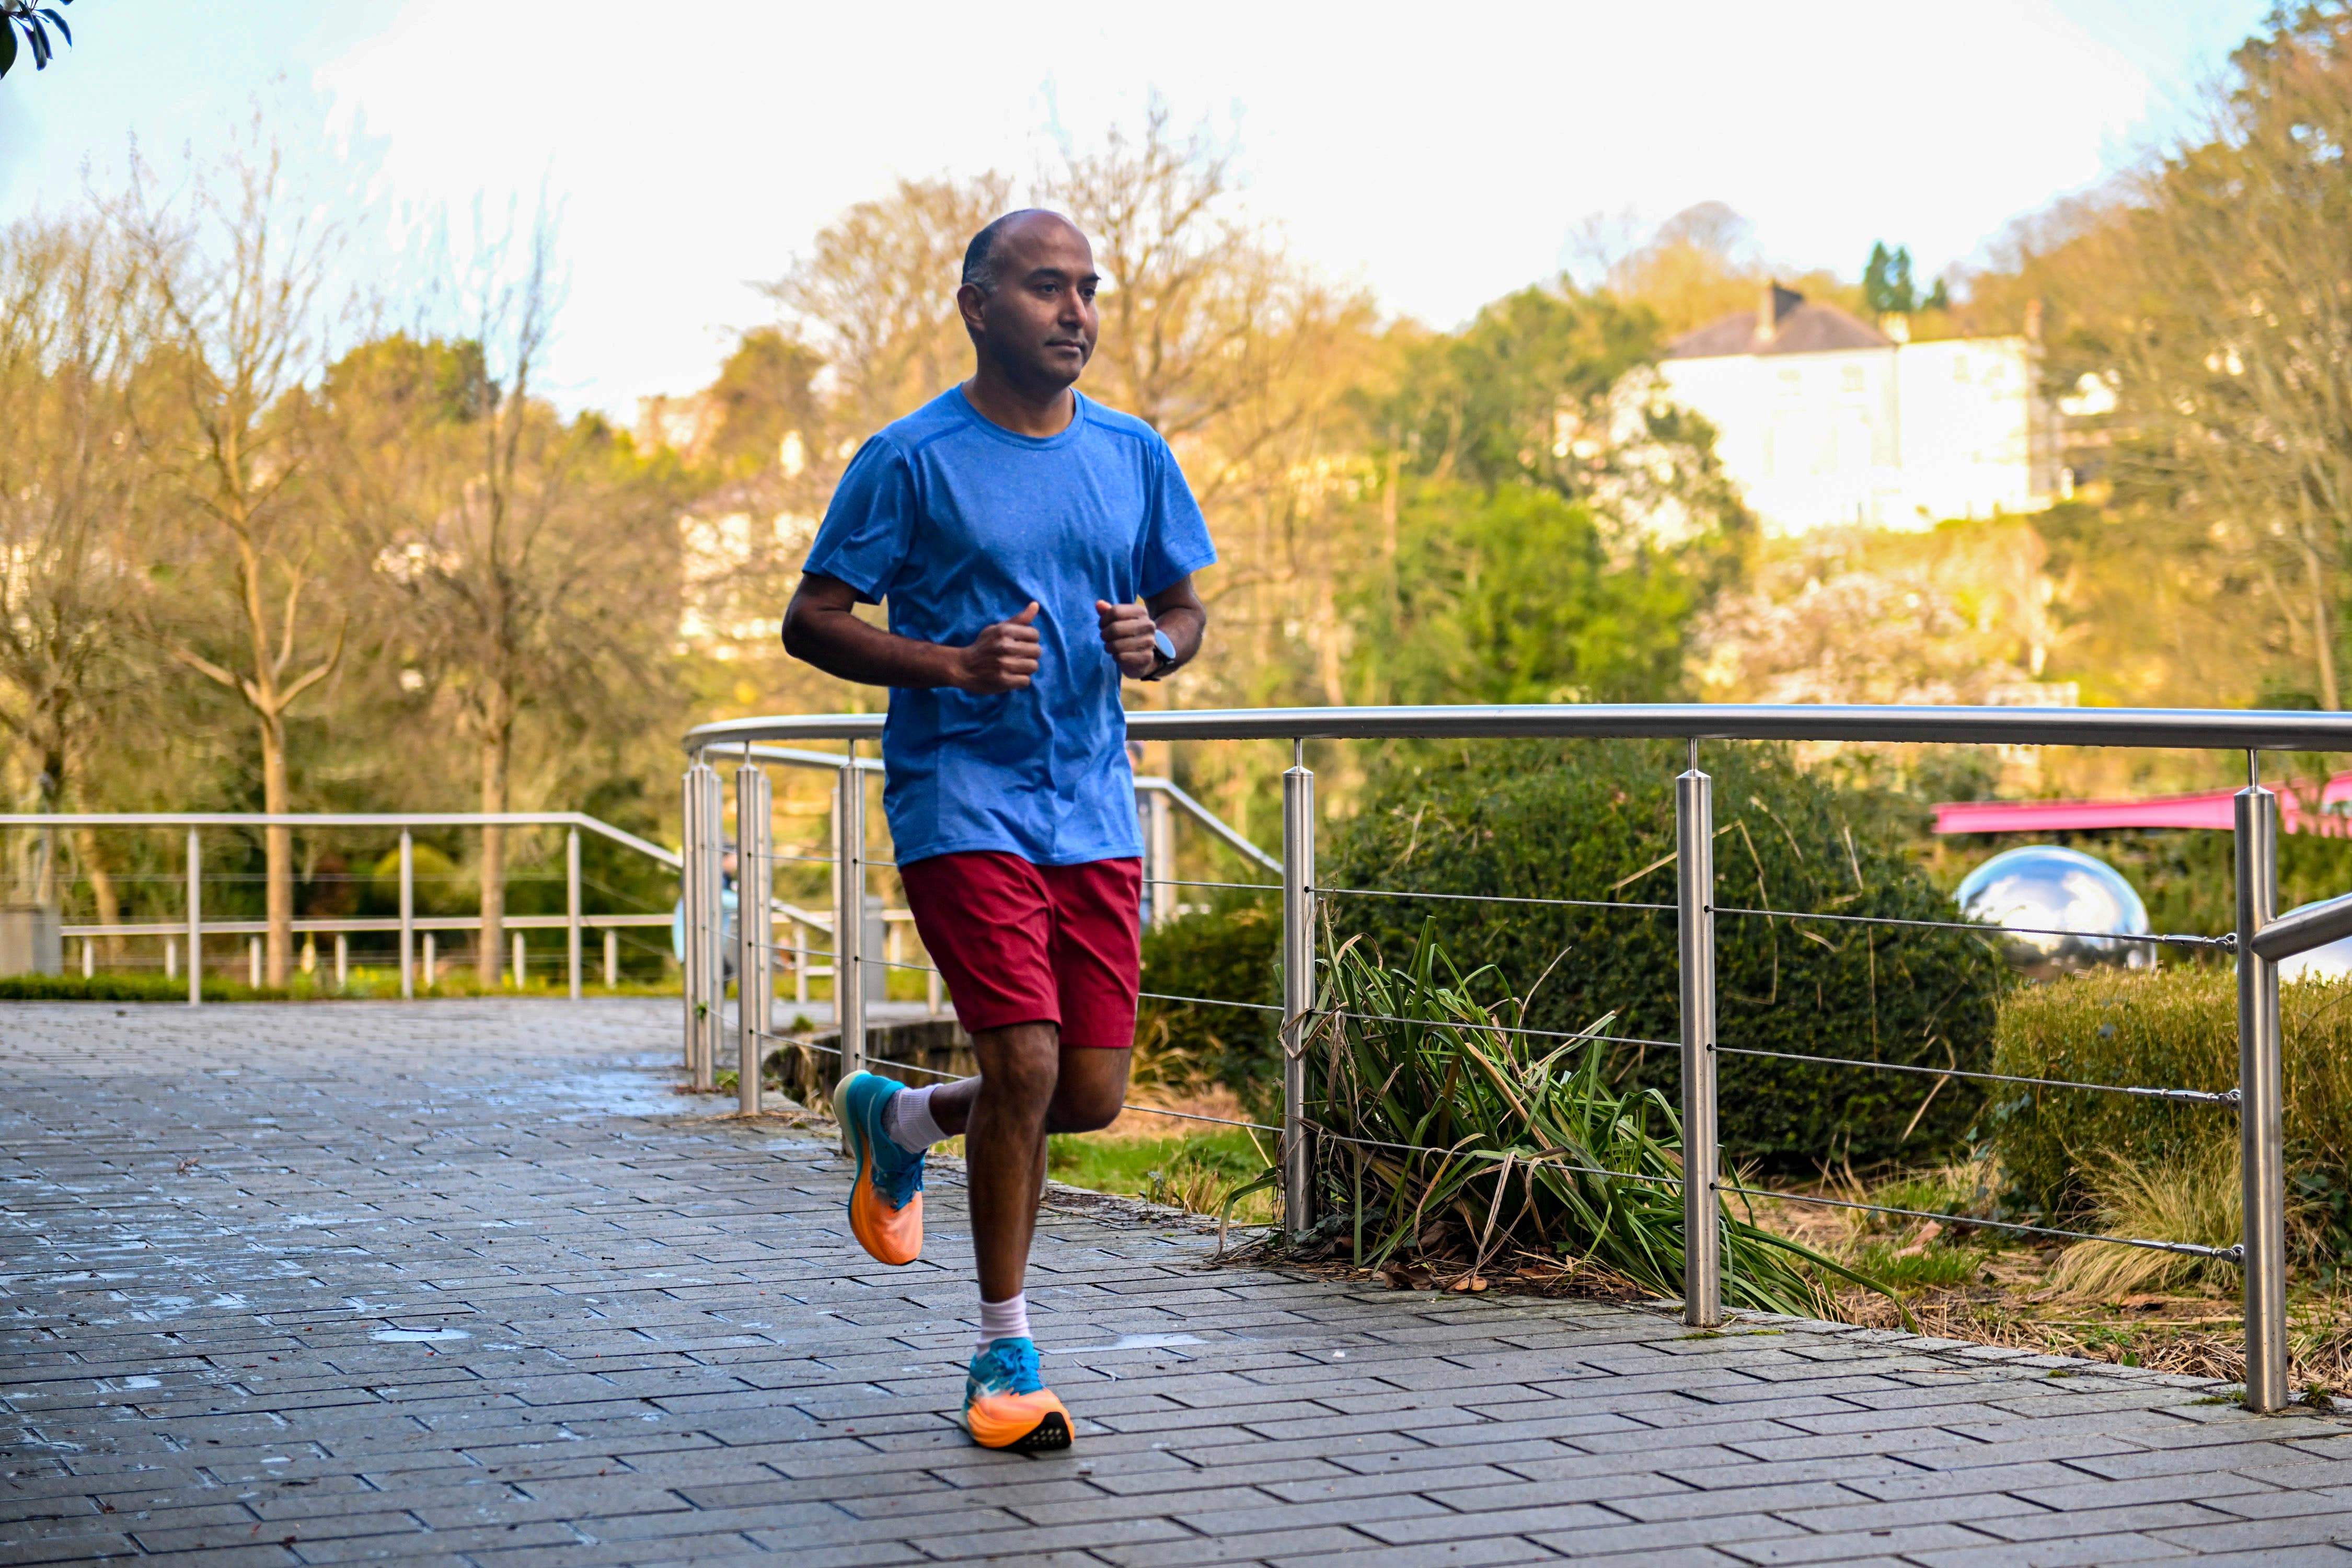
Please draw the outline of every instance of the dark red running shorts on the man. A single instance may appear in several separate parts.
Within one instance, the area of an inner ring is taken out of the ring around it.
[[[1065,1046],[1136,1044],[1141,860],[1030,865],[981,849],[898,879],[967,1032],[1054,1023]]]

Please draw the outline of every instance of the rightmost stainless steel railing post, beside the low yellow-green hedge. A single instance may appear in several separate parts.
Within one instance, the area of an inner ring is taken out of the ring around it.
[[[2279,797],[2246,752],[2237,792],[2237,1117],[2246,1206],[2246,1408],[2286,1406],[2286,1152],[2279,966],[2253,936],[2279,914]]]

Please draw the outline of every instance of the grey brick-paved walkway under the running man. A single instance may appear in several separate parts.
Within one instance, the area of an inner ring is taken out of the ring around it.
[[[2345,1563],[2352,1432],[1950,1342],[1204,1269],[1049,1215],[1068,1455],[661,1004],[0,1006],[0,1561]],[[2053,1371],[2072,1373],[2051,1378]]]

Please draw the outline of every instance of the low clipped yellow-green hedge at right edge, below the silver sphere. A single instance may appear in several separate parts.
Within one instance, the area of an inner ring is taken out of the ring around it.
[[[2352,1161],[2352,980],[2281,985],[2279,1018],[2291,1171],[2307,1197],[2326,1204]],[[2237,976],[2107,969],[2023,987],[2002,1001],[1992,1065],[2079,1084],[2234,1088]],[[2201,1157],[2216,1135],[2237,1135],[2227,1107],[2082,1088],[2004,1093],[1985,1121],[2011,1199],[2051,1215],[2093,1204],[2089,1178],[2100,1159],[2178,1164]]]

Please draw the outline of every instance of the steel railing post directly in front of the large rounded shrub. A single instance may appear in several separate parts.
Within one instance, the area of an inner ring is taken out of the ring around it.
[[[1715,1197],[1715,780],[1675,778],[1675,931],[1682,947],[1682,1321],[1724,1321],[1724,1229]]]

